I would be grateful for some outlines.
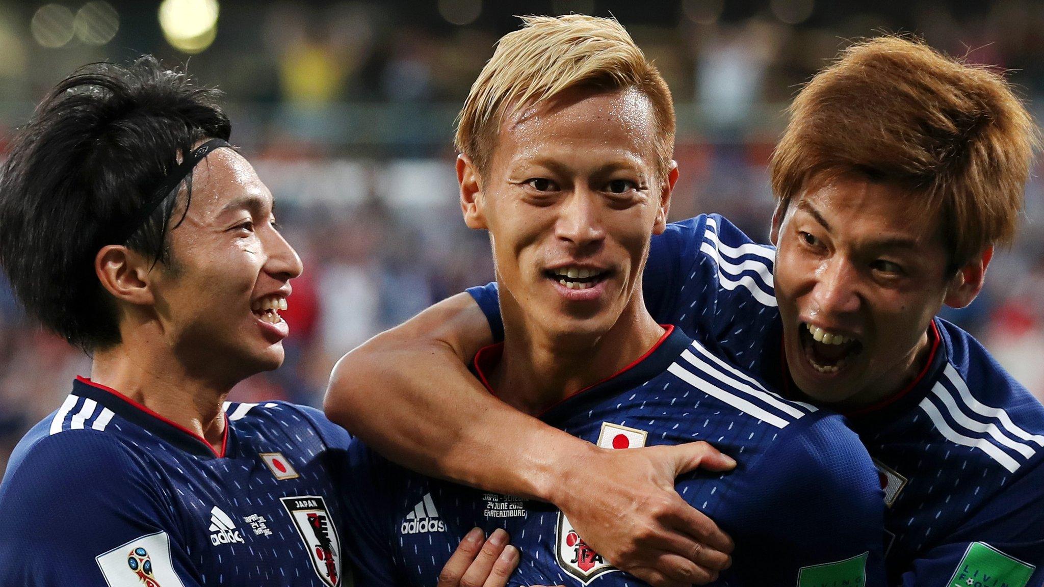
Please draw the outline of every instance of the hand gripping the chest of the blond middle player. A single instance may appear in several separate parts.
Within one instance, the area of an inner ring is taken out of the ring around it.
[[[736,462],[706,442],[611,450],[591,446],[557,479],[551,501],[620,570],[654,587],[704,585],[732,563],[732,539],[678,494],[674,478]]]

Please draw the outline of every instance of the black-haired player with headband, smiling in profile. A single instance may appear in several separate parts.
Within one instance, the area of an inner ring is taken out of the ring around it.
[[[283,361],[302,266],[215,99],[151,58],[89,66],[13,141],[0,262],[93,362],[10,459],[0,585],[350,584],[348,433],[310,407],[224,402]],[[441,585],[503,585],[518,554],[483,542]]]

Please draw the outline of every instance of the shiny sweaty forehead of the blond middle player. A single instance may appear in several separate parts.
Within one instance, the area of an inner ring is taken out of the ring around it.
[[[523,154],[560,143],[651,158],[655,133],[652,104],[638,90],[574,89],[506,117],[498,142]]]

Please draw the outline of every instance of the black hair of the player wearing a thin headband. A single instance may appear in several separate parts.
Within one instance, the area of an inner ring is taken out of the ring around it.
[[[119,343],[94,258],[125,244],[169,266],[164,243],[181,184],[125,242],[114,240],[180,156],[229,139],[219,96],[146,55],[127,67],[84,66],[37,107],[0,171],[0,265],[29,315],[89,352]],[[183,183],[187,211],[191,173]]]

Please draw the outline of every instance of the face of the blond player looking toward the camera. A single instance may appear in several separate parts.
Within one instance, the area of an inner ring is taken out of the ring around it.
[[[656,133],[643,94],[577,89],[508,117],[484,173],[458,160],[465,219],[490,231],[505,323],[590,336],[641,307],[649,238],[678,177],[661,181]]]

